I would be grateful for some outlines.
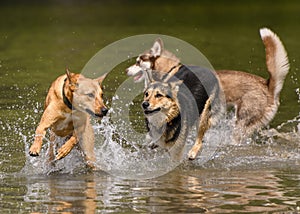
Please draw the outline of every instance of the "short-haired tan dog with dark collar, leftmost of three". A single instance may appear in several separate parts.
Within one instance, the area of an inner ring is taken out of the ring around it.
[[[69,137],[58,149],[56,160],[68,155],[80,142],[80,149],[85,155],[87,164],[93,166],[94,131],[90,123],[90,115],[102,118],[108,112],[102,99],[101,83],[104,78],[105,75],[98,79],[89,79],[67,70],[65,75],[58,77],[52,83],[46,97],[44,113],[35,132],[34,143],[29,150],[31,156],[40,154],[43,138],[50,128],[51,142],[55,141],[56,136]],[[51,150],[53,150],[52,144]],[[50,156],[50,160],[53,160],[53,151],[50,151]]]

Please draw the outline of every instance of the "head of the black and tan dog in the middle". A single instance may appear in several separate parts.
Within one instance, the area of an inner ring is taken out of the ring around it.
[[[144,101],[142,108],[147,118],[155,115],[164,117],[165,121],[170,122],[180,113],[177,94],[182,81],[177,82],[158,82],[149,83],[144,91]]]

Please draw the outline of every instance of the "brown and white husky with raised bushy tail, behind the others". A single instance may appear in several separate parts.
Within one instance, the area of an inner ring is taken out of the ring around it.
[[[279,106],[280,91],[289,71],[287,53],[278,36],[267,28],[261,29],[260,35],[266,48],[269,79],[241,71],[216,71],[227,105],[235,108],[234,137],[237,141],[250,136],[274,118]],[[145,77],[144,70],[155,70],[156,76],[162,78],[166,73],[176,74],[180,66],[180,60],[165,50],[163,42],[158,39],[126,71],[139,82]]]

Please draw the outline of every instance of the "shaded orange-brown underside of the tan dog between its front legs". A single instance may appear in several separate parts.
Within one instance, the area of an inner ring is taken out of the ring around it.
[[[60,137],[70,135],[74,131],[73,119],[71,115],[59,119],[52,127],[52,131]]]

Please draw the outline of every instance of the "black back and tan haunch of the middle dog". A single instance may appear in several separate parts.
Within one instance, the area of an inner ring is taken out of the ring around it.
[[[204,67],[182,65],[170,81],[173,79],[183,80],[178,98],[181,113],[186,114],[188,124],[193,125],[198,120],[207,100],[211,98],[210,111],[214,125],[225,109],[224,98],[215,73]]]

